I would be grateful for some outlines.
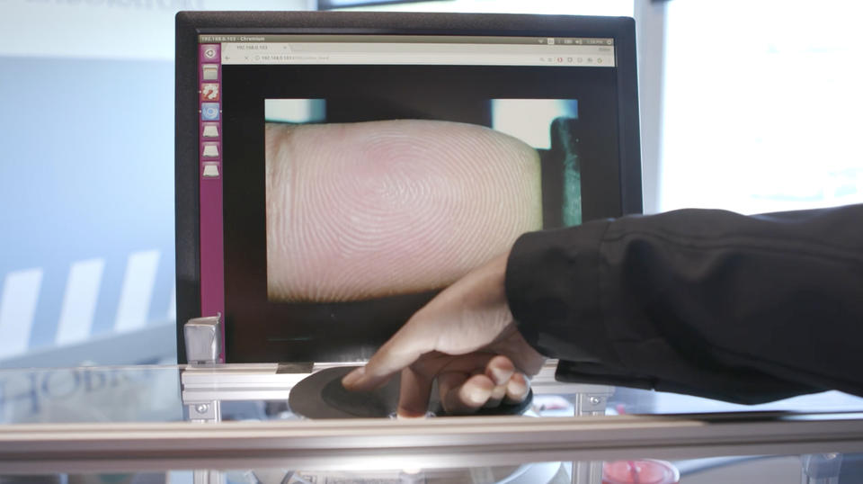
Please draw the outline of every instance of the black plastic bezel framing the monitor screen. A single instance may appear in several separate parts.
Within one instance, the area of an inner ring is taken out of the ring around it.
[[[181,12],[176,15],[174,184],[177,359],[186,363],[183,324],[200,316],[198,36],[227,33],[340,33],[601,37],[615,42],[621,214],[641,213],[636,29],[629,17],[505,13]],[[195,136],[189,136],[195,133]]]

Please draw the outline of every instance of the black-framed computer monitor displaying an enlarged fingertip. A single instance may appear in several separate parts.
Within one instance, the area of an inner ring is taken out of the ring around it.
[[[632,19],[179,13],[178,354],[368,358],[521,233],[641,211]]]

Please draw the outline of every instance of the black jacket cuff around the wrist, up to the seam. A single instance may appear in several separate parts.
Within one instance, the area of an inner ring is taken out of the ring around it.
[[[522,336],[541,354],[617,362],[601,314],[601,239],[609,220],[531,232],[512,246],[506,297]]]

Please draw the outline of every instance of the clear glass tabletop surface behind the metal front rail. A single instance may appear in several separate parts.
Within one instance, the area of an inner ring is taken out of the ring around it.
[[[93,366],[0,370],[0,424],[297,419],[290,390],[338,363]],[[863,412],[863,399],[827,391],[746,406],[649,390],[533,379],[531,415],[572,417],[725,412]],[[218,401],[218,418],[209,407]],[[199,412],[199,410],[201,410]]]

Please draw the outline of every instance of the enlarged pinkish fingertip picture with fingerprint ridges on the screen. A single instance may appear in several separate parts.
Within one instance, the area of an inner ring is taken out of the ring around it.
[[[549,213],[554,226],[580,222],[577,138],[567,131],[577,104],[488,104],[491,126],[328,123],[325,100],[267,100],[268,299],[435,291],[548,226]]]

